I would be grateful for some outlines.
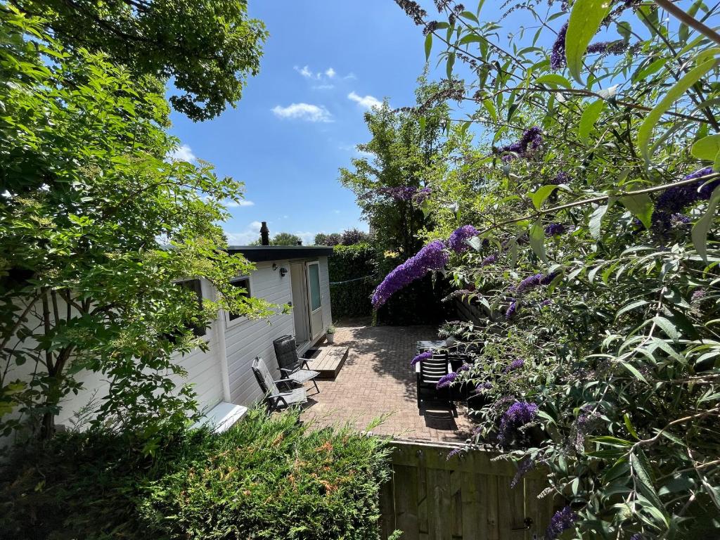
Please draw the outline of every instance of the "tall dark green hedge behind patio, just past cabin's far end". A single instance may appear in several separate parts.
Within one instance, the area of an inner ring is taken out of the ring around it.
[[[366,243],[334,246],[328,259],[333,318],[365,317],[372,313],[370,297],[377,283],[375,249]],[[358,279],[370,276],[367,279]],[[357,280],[357,281],[350,281]]]

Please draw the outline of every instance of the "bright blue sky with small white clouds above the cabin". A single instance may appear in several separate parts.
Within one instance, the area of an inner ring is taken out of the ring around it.
[[[384,97],[413,104],[423,71],[423,35],[392,0],[251,0],[270,37],[261,72],[236,109],[209,122],[173,114],[181,155],[214,163],[246,184],[244,206],[224,225],[231,244],[286,231],[308,243],[315,233],[367,229],[353,194],[338,183],[357,143],[369,135],[367,107]]]

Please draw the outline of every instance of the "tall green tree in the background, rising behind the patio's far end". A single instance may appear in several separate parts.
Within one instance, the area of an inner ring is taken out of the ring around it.
[[[448,121],[444,103],[428,103],[440,89],[424,84],[416,92],[423,109],[423,124],[408,109],[382,107],[365,113],[372,139],[358,145],[372,158],[354,158],[354,171],[340,169],[343,186],[352,189],[364,220],[376,231],[376,242],[384,251],[410,256],[420,247],[416,235],[423,228],[420,205],[428,195],[428,182],[444,166],[442,133]]]

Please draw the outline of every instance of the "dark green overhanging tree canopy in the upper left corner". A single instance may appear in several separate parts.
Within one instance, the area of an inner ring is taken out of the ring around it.
[[[242,0],[11,0],[42,24],[66,51],[103,52],[136,76],[172,80],[173,107],[207,120],[240,99],[256,75],[264,24],[248,19]],[[0,6],[0,9],[4,9]]]

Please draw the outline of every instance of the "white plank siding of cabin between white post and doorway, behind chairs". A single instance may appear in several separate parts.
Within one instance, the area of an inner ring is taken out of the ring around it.
[[[289,261],[274,262],[289,269]],[[273,304],[292,302],[290,284],[290,275],[281,277],[279,269],[272,269],[272,262],[256,264],[256,271],[250,277],[252,296]],[[228,323],[225,330],[225,348],[228,356],[230,398],[233,403],[250,405],[262,397],[251,369],[256,356],[261,356],[273,376],[279,378],[272,342],[284,334],[294,333],[292,313],[274,315],[269,320],[237,319]]]

